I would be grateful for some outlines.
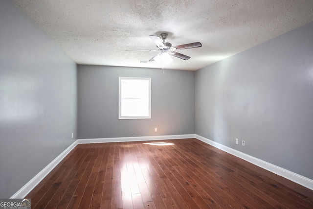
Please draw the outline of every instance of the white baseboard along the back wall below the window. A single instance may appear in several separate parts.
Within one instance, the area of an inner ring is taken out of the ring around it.
[[[195,138],[194,134],[167,135],[167,136],[148,136],[148,137],[118,137],[118,138],[99,138],[99,139],[77,139],[78,144],[125,142],[125,141],[151,141],[165,139],[189,139]]]

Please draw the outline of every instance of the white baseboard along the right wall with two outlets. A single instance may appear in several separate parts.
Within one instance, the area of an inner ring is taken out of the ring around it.
[[[307,177],[304,177],[304,176],[301,176],[299,174],[293,173],[293,172],[291,172],[289,170],[286,170],[284,168],[278,167],[278,166],[276,166],[274,164],[262,161],[262,160],[260,160],[258,158],[255,158],[255,157],[252,157],[252,156],[247,155],[245,153],[239,152],[238,150],[232,149],[232,148],[227,147],[227,146],[225,146],[223,144],[220,144],[220,143],[217,143],[217,142],[212,141],[210,139],[206,139],[204,137],[201,137],[201,136],[199,136],[197,134],[195,135],[195,138],[199,139],[199,140],[201,140],[201,141],[203,141],[203,142],[205,142],[207,144],[210,144],[210,145],[212,145],[212,146],[214,146],[216,148],[219,148],[219,149],[221,149],[221,150],[223,150],[223,151],[225,151],[225,152],[227,152],[229,154],[232,154],[232,155],[234,155],[234,156],[236,156],[238,158],[241,158],[241,159],[243,159],[243,160],[245,160],[245,161],[247,161],[249,163],[253,163],[253,164],[255,164],[255,165],[259,166],[259,167],[262,167],[262,168],[264,168],[264,169],[266,169],[266,170],[268,170],[268,171],[270,171],[272,173],[275,173],[275,174],[277,174],[279,176],[282,176],[282,177],[284,177],[286,179],[289,179],[292,182],[295,182],[295,183],[297,183],[299,185],[305,186],[305,187],[313,190],[313,180],[312,179],[309,179]]]

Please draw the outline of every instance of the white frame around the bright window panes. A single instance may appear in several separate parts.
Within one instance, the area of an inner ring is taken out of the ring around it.
[[[149,115],[148,116],[122,116],[122,80],[148,80],[149,81]],[[151,78],[118,77],[118,119],[150,119],[151,118]]]

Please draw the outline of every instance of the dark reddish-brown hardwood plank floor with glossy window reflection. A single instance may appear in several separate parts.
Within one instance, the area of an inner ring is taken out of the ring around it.
[[[311,208],[313,191],[198,139],[79,144],[32,209]]]

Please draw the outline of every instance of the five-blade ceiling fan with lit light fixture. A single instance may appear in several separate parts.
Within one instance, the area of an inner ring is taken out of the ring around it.
[[[176,52],[176,50],[187,49],[187,48],[197,48],[197,47],[202,46],[200,42],[172,46],[171,43],[165,42],[167,35],[168,35],[167,33],[161,33],[159,36],[154,36],[154,35],[149,36],[151,40],[156,44],[157,49],[138,49],[138,50],[126,50],[126,51],[159,51],[159,53],[153,56],[149,61],[141,61],[141,62],[155,61],[156,58],[160,57],[160,55],[162,54],[169,54],[169,55],[178,57],[183,60],[188,60],[190,58],[189,56],[180,54]]]

